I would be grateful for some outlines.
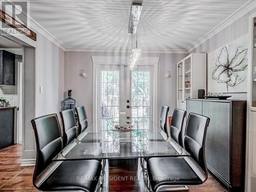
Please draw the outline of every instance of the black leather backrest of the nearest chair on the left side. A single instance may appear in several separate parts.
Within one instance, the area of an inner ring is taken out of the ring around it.
[[[57,114],[31,120],[36,142],[36,165],[33,181],[45,170],[62,150],[62,138]]]

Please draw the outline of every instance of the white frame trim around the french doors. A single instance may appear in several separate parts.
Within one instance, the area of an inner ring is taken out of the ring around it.
[[[93,121],[96,121],[97,117],[97,81],[98,81],[98,65],[127,65],[129,62],[130,57],[124,56],[92,56],[93,61]],[[154,66],[154,77],[153,77],[153,120],[157,122],[158,120],[158,63],[159,57],[142,57],[142,60],[139,65],[146,65],[146,66]],[[98,132],[97,130],[97,121],[96,127],[93,127],[93,132]]]

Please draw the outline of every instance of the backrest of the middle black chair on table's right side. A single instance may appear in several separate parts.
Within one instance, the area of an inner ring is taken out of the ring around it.
[[[183,146],[182,130],[186,113],[187,112],[183,110],[175,109],[172,123],[170,124],[170,136],[179,143],[180,146]]]

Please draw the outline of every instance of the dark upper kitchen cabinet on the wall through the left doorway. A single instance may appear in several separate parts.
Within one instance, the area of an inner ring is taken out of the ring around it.
[[[0,50],[0,84],[15,86],[15,54]]]

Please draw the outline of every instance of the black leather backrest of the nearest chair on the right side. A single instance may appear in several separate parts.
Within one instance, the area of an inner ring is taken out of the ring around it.
[[[205,161],[205,138],[210,119],[189,113],[184,137],[184,148],[207,175]]]

